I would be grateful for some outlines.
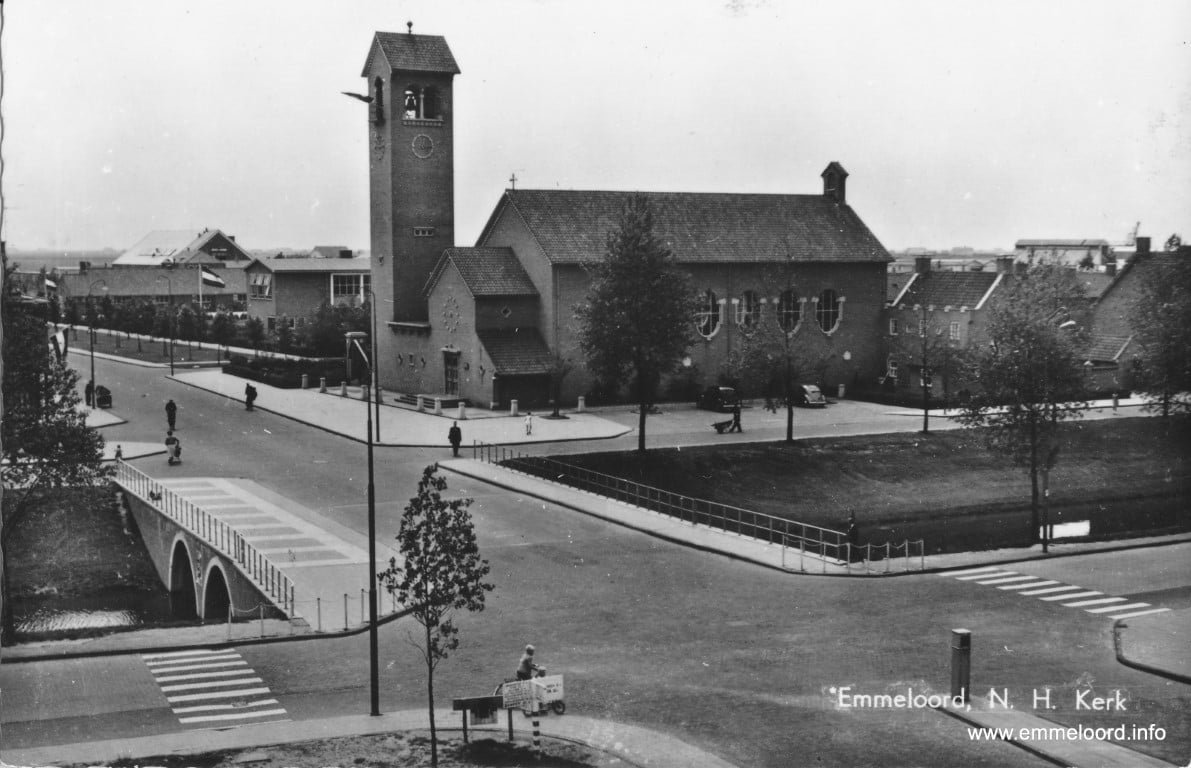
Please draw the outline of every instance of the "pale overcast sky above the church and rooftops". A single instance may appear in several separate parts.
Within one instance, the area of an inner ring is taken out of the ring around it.
[[[2,236],[367,249],[364,58],[447,38],[457,244],[518,188],[817,194],[891,250],[1191,238],[1186,0],[11,0]]]

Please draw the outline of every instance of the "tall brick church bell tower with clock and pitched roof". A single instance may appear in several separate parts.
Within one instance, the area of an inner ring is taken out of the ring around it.
[[[372,286],[385,374],[386,323],[424,324],[422,294],[435,263],[455,244],[451,85],[459,74],[442,37],[376,32],[368,82]]]

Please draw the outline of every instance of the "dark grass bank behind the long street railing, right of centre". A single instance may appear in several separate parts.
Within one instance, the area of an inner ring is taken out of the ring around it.
[[[1025,547],[1030,482],[969,430],[585,454],[570,464],[928,552]],[[1091,536],[1191,529],[1191,427],[1156,418],[1073,422],[1050,473],[1050,519]],[[547,472],[550,476],[557,473]]]

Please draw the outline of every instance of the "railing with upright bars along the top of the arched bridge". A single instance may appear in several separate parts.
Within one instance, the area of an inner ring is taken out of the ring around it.
[[[236,563],[241,573],[273,600],[276,607],[286,616],[293,616],[293,582],[236,529],[124,461],[116,462],[116,481]]]

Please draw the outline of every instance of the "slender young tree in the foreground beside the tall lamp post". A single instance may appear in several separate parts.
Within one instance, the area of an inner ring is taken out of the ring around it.
[[[488,561],[480,558],[472,514],[472,499],[442,497],[447,480],[431,464],[422,472],[418,493],[410,499],[401,516],[398,550],[403,564],[391,560],[388,569],[378,574],[381,585],[397,600],[411,608],[422,625],[423,637],[410,636],[426,663],[426,699],[430,713],[430,762],[438,764],[438,741],[435,730],[435,668],[459,648],[459,627],[454,613],[482,611],[485,593],[493,586],[484,581]]]

